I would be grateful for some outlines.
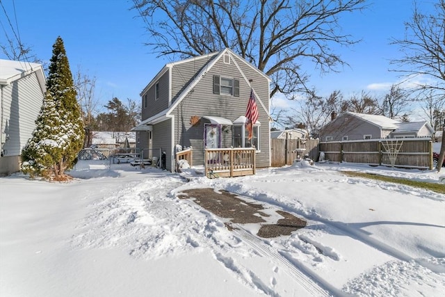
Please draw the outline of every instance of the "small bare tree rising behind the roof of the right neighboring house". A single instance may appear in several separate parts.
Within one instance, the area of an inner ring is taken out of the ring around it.
[[[405,114],[409,101],[407,94],[397,85],[392,85],[389,93],[383,97],[382,106],[380,107],[382,114],[388,118],[402,118]]]

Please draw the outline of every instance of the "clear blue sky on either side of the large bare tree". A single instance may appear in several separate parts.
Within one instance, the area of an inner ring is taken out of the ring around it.
[[[418,0],[422,10],[432,8],[434,0]],[[156,58],[143,45],[143,21],[136,10],[129,10],[127,0],[1,0],[15,31],[33,54],[49,61],[52,45],[58,35],[65,49],[72,72],[78,67],[91,77],[97,77],[96,95],[106,104],[113,97],[122,102],[139,100],[139,93],[156,75],[168,58]],[[5,44],[5,31],[13,36],[3,7],[0,7],[0,43]],[[364,91],[382,95],[392,83],[400,81],[389,72],[389,60],[398,57],[398,47],[389,45],[390,38],[401,38],[404,22],[412,16],[412,0],[373,0],[362,13],[345,15],[341,19],[343,33],[362,39],[358,45],[338,49],[350,67],[341,72],[320,77],[314,73],[311,83],[321,95],[341,90],[346,96]],[[16,25],[17,19],[17,25]],[[6,58],[1,52],[0,58]],[[308,65],[308,68],[314,65]],[[288,108],[292,104],[274,99],[275,106]]]

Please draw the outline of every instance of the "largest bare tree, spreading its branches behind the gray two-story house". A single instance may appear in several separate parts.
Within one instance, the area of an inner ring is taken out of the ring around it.
[[[307,92],[303,63],[321,72],[347,65],[332,45],[354,45],[339,19],[366,0],[133,0],[159,56],[199,56],[231,48],[272,80],[270,97]]]

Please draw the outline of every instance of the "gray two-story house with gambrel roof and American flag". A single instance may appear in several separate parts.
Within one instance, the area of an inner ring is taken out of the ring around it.
[[[175,152],[193,148],[204,165],[205,148],[255,147],[256,166],[270,166],[270,79],[231,49],[166,64],[140,93],[142,122],[136,147],[144,158],[165,154],[175,170]],[[245,112],[251,90],[259,117],[248,139]]]

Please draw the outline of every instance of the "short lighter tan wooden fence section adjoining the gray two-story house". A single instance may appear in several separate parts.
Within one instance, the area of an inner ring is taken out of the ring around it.
[[[318,139],[270,139],[270,166],[291,165],[297,156],[318,159]]]

